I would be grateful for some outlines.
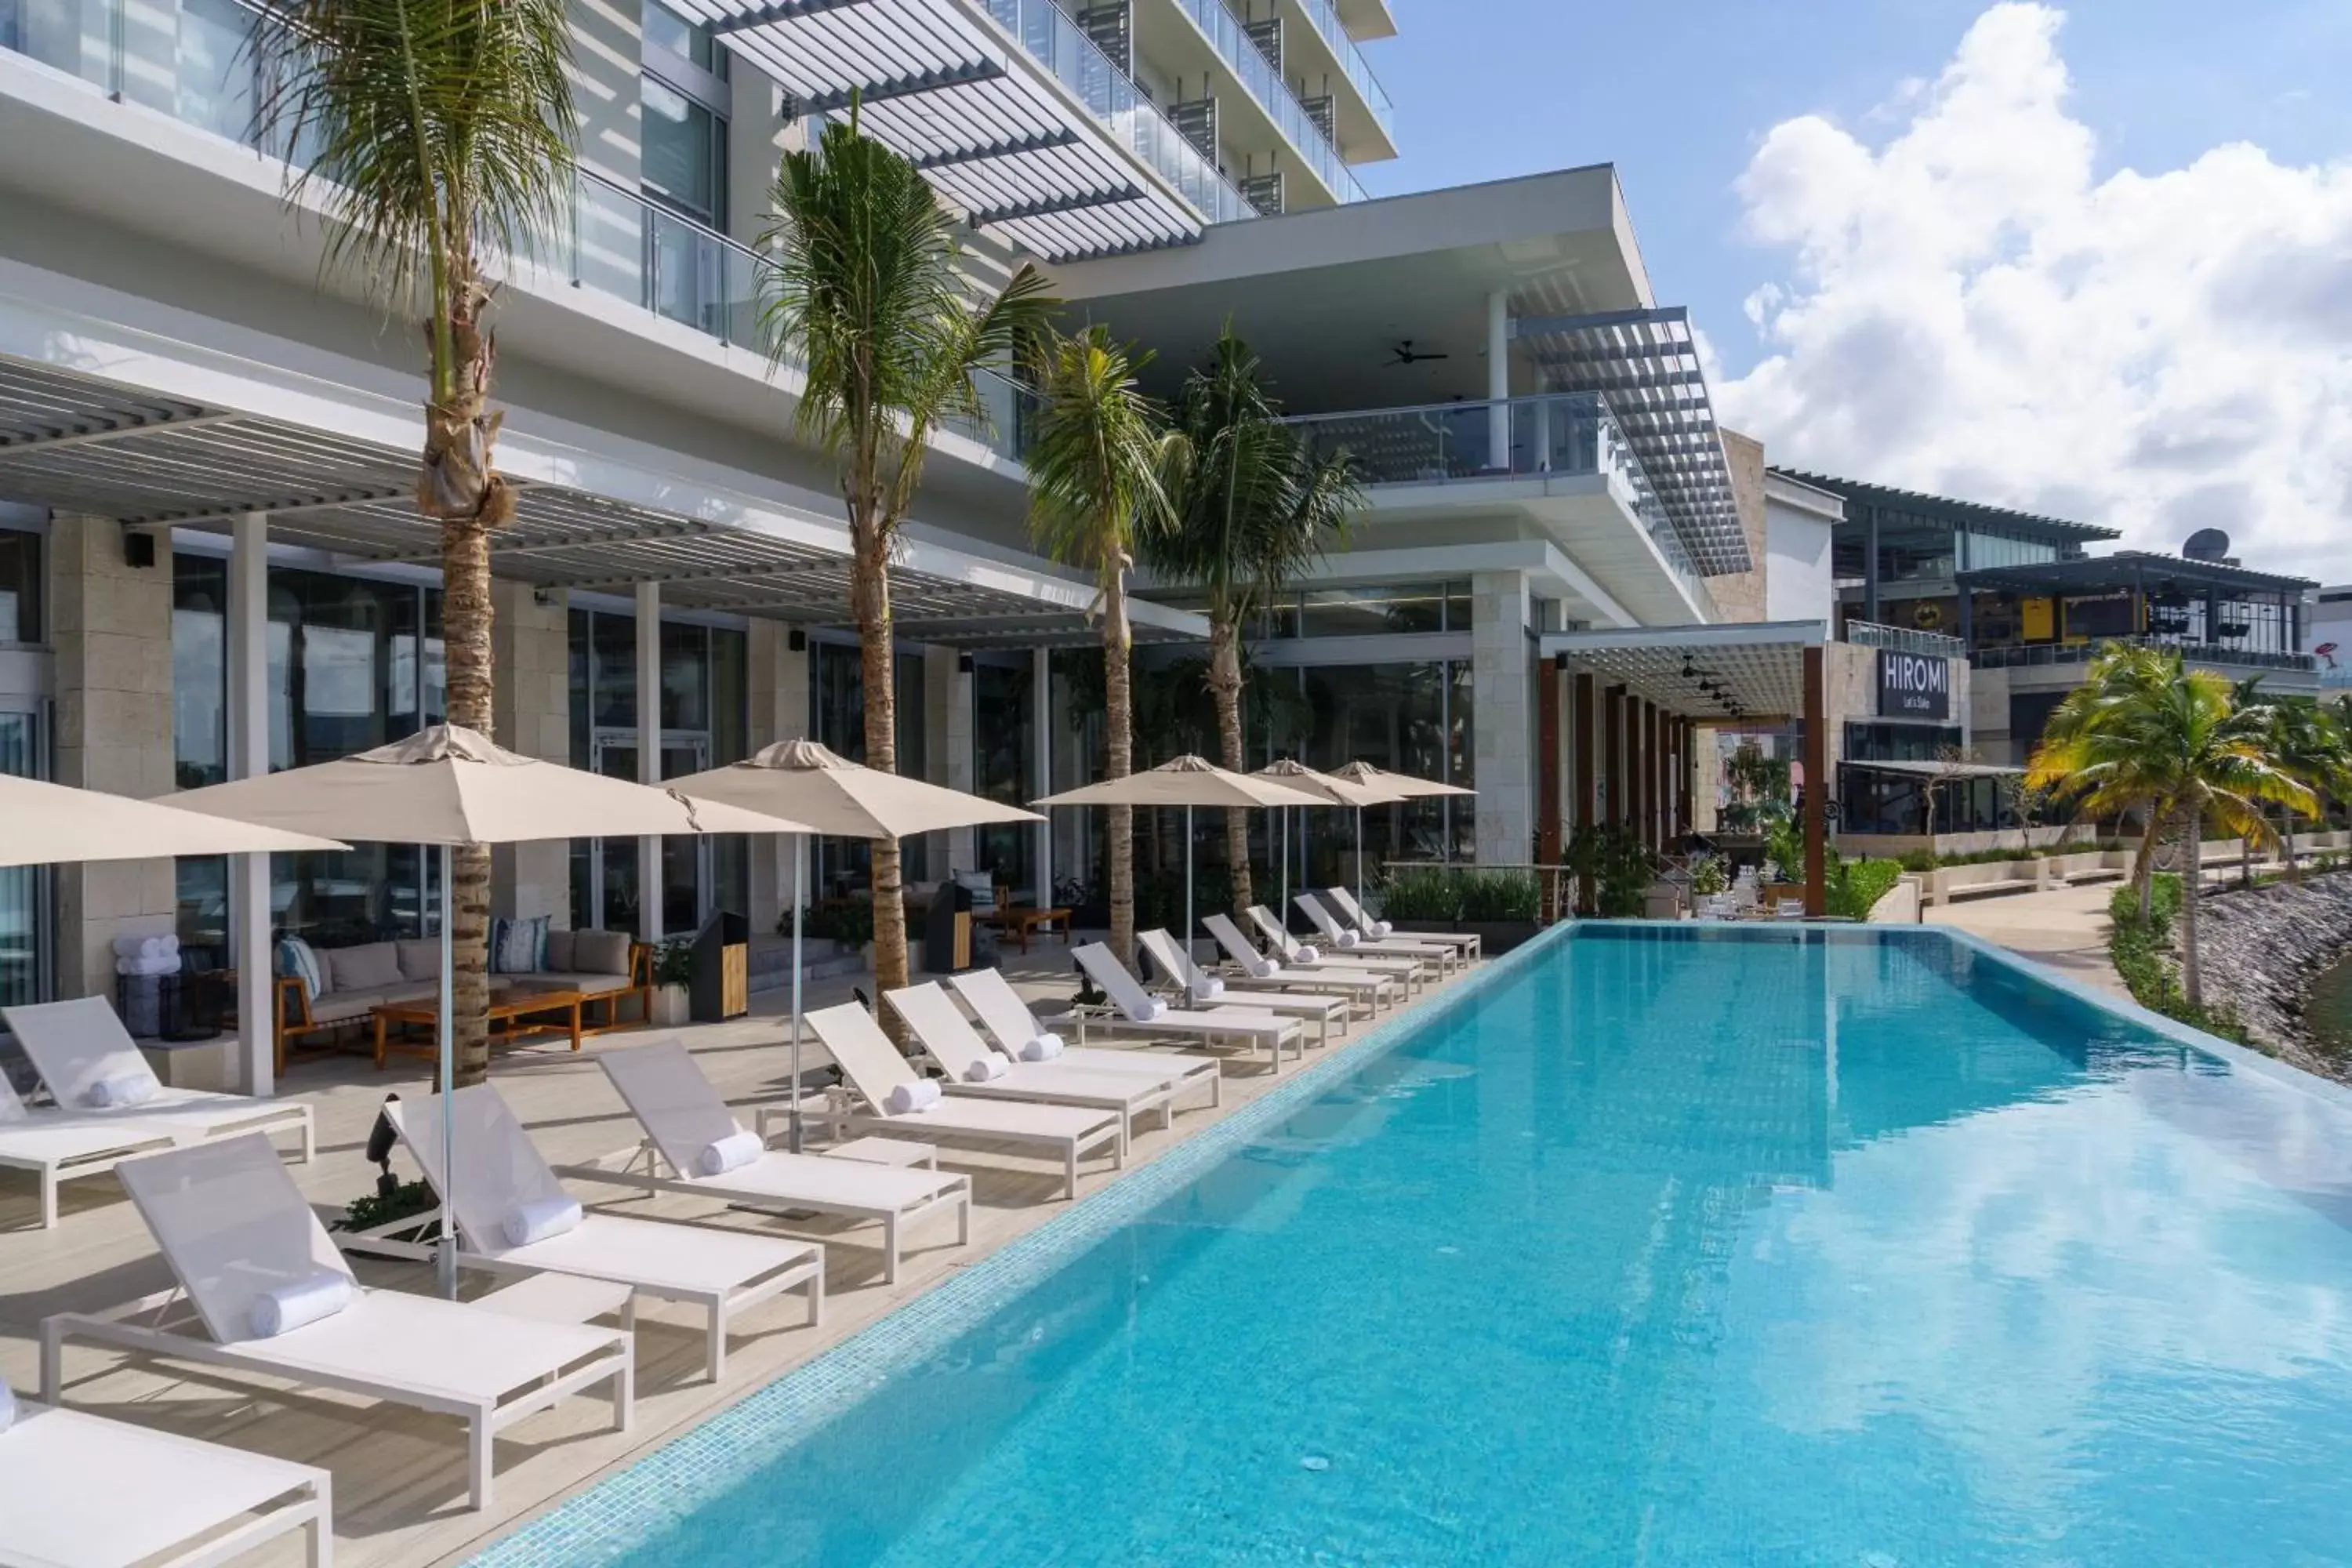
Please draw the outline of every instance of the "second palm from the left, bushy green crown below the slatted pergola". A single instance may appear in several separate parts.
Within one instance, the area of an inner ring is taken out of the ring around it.
[[[776,169],[760,324],[769,367],[797,360],[797,423],[835,461],[849,510],[866,766],[898,771],[889,557],[943,418],[983,418],[974,376],[1044,322],[1023,266],[997,292],[964,273],[955,221],[913,162],[868,139],[858,106]],[[873,846],[875,983],[906,985],[898,842]]]

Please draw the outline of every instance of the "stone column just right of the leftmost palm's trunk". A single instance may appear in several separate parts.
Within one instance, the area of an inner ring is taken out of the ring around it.
[[[489,604],[492,668],[499,672],[489,712],[499,745],[569,766],[572,628],[564,590],[499,578],[489,585]],[[494,846],[489,910],[510,919],[546,914],[555,926],[572,926],[572,842]]]

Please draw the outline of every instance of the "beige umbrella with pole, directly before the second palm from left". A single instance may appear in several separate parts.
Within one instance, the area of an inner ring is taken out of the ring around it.
[[[828,839],[906,839],[917,832],[1042,823],[1021,806],[861,766],[816,741],[779,741],[743,762],[673,780],[696,799],[774,811]],[[793,1152],[800,1152],[800,905],[802,846],[793,844]]]

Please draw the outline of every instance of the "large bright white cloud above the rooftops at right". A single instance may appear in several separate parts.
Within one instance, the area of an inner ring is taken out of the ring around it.
[[[1877,143],[1764,136],[1743,221],[1790,270],[1748,301],[1766,357],[1726,423],[1792,468],[2352,578],[2352,160],[2098,179],[2060,24],[1994,5]]]

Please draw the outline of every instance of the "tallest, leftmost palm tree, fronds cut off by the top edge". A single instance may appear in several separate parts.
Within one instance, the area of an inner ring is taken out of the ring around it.
[[[259,129],[299,148],[287,200],[329,214],[327,266],[386,315],[423,317],[416,510],[440,529],[447,717],[492,733],[489,536],[515,515],[494,451],[503,256],[572,209],[572,24],[564,0],[285,0],[256,16]],[[456,1081],[489,1070],[489,851],[452,860]]]

